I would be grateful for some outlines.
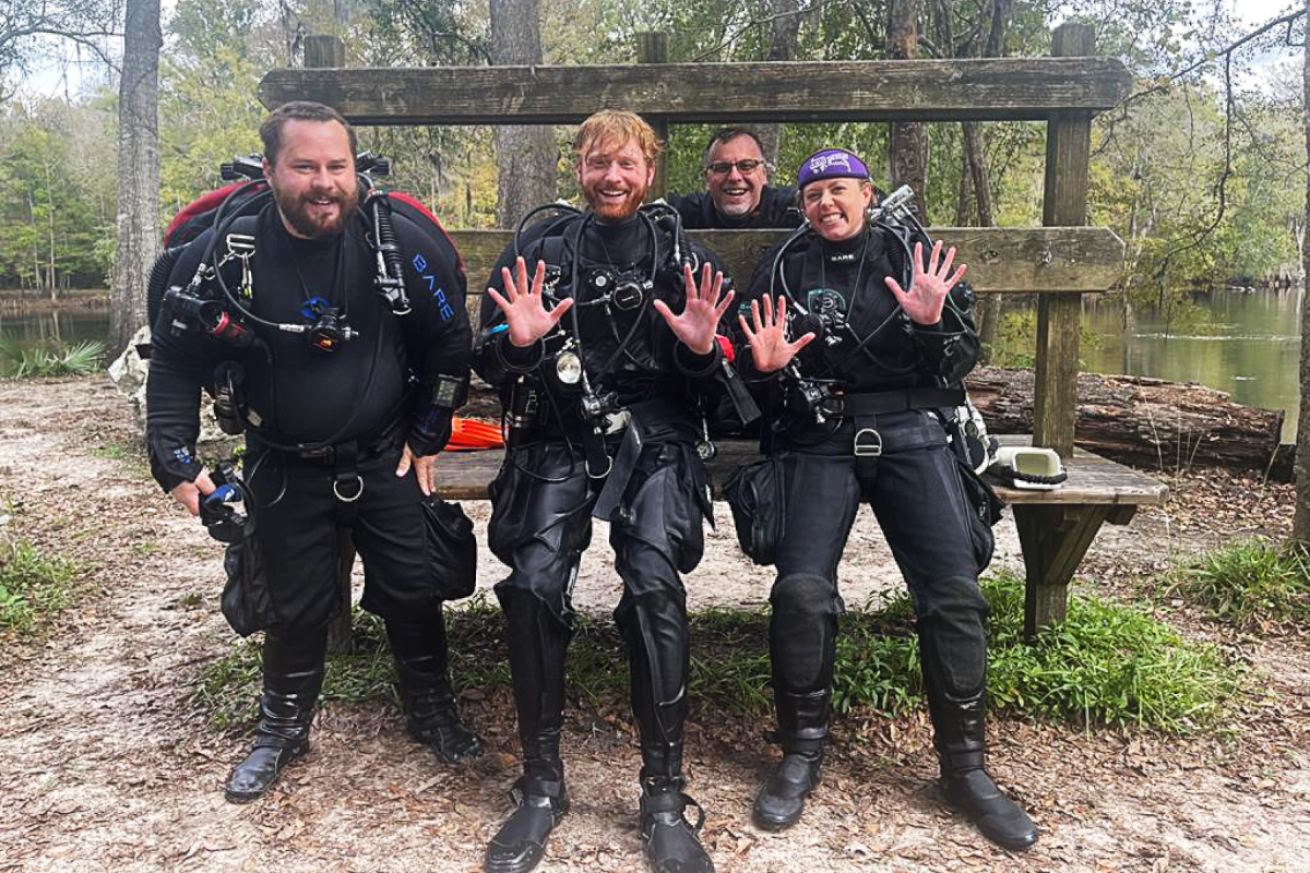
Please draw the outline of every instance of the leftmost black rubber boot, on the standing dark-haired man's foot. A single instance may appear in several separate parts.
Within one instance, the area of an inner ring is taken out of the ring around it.
[[[224,797],[249,804],[262,797],[287,764],[309,751],[309,725],[324,682],[328,636],[314,630],[287,640],[274,632],[263,641],[263,696],[254,748],[233,768]]]

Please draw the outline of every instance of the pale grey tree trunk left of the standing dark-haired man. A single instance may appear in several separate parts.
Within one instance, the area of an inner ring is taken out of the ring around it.
[[[118,87],[118,219],[109,347],[118,354],[145,324],[145,282],[159,250],[160,0],[127,0]]]

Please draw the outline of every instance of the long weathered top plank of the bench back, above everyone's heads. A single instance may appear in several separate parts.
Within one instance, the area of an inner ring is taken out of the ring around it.
[[[665,122],[1039,121],[1128,94],[1111,58],[274,69],[259,100],[358,125],[571,125],[597,109]]]

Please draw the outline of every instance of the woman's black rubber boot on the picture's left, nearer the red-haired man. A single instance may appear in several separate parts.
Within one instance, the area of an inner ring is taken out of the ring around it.
[[[774,693],[782,763],[755,798],[755,823],[758,827],[781,831],[800,821],[806,798],[819,785],[823,771],[831,699],[828,689],[808,695]]]

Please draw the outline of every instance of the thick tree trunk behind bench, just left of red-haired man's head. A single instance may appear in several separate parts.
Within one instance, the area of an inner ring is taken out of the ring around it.
[[[491,0],[491,63],[541,63],[537,0]],[[514,227],[524,212],[555,197],[555,136],[548,125],[503,125],[496,127],[495,147],[496,223]]]

